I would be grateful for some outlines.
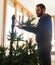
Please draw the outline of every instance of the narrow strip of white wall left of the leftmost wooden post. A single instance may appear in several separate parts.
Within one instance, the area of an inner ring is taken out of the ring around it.
[[[0,45],[1,43],[1,36],[2,36],[2,22],[3,22],[3,3],[4,0],[0,0]]]

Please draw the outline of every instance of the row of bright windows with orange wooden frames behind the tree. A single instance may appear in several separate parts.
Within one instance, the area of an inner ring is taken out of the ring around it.
[[[16,9],[16,7],[17,7],[17,9]],[[25,12],[23,12],[23,10]],[[11,18],[12,18],[12,15],[14,13],[16,15],[15,25],[22,23],[22,19],[23,19],[23,22],[26,22],[28,20],[28,14],[29,14],[29,16],[33,16],[27,9],[25,9],[25,7],[23,7],[17,1],[12,2],[11,0],[8,0],[8,2],[7,2],[7,12],[6,12],[6,23],[5,23],[5,40],[4,40],[5,46],[10,45],[10,40],[7,39],[8,38],[7,35],[9,35],[9,31],[11,32],[11,25],[12,25],[12,19]],[[29,38],[32,38],[32,33],[29,33],[25,30],[20,30],[17,27],[15,27],[15,30],[17,32],[17,36],[20,35],[20,34],[23,34],[24,40],[29,40]],[[21,41],[21,45],[22,45],[22,41]]]

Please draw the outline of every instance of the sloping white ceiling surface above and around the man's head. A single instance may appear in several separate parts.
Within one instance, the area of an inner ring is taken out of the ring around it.
[[[24,7],[26,7],[30,12],[36,15],[35,7],[39,3],[45,4],[47,10],[46,13],[50,15],[55,15],[55,0],[17,0],[20,2]]]

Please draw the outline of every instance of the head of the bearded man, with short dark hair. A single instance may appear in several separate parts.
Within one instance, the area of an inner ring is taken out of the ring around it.
[[[45,14],[45,10],[46,10],[45,5],[43,4],[36,5],[36,14],[38,17],[43,16]]]

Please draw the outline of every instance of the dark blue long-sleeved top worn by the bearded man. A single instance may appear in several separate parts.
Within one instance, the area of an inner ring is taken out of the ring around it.
[[[36,27],[23,26],[23,29],[35,33],[37,43],[47,43],[52,40],[52,19],[49,14],[42,16]]]

